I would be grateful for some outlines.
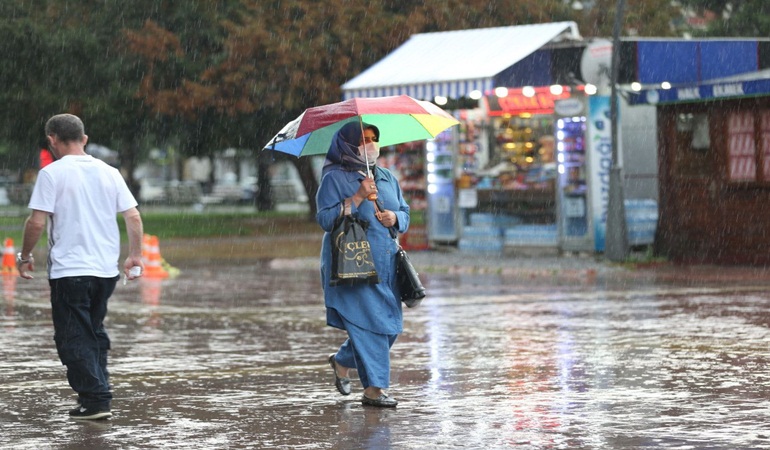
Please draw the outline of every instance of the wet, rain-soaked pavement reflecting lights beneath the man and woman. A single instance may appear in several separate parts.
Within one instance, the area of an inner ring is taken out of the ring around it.
[[[429,274],[379,410],[334,389],[317,278],[119,285],[115,415],[86,423],[66,417],[47,282],[4,278],[0,448],[770,448],[770,283]]]

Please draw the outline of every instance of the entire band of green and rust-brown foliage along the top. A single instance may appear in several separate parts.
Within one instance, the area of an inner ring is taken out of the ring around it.
[[[412,34],[576,20],[584,35],[607,36],[614,3],[4,0],[0,166],[34,168],[43,124],[60,112],[81,115],[90,141],[119,150],[128,172],[150,147],[258,150]],[[629,0],[628,27],[665,34],[668,3]]]

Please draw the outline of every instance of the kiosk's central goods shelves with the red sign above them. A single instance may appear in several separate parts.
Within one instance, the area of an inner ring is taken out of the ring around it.
[[[479,139],[468,139],[468,145],[476,148],[474,164],[464,167],[459,183],[461,188],[475,190],[477,203],[468,213],[504,214],[524,224],[555,224],[553,107],[556,100],[569,98],[570,90],[541,87],[509,89],[505,94],[488,95],[483,124],[471,122],[466,127],[481,130],[476,135],[487,140],[484,151]],[[463,150],[462,138],[461,132],[461,157],[469,153]]]

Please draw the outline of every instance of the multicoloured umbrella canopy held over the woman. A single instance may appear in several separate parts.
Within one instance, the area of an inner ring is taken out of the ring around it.
[[[362,121],[380,130],[380,146],[432,139],[459,122],[433,103],[408,95],[351,98],[308,108],[265,145],[294,156],[325,155],[343,125]]]

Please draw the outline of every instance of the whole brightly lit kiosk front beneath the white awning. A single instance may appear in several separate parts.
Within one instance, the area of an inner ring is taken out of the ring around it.
[[[389,156],[413,212],[425,213],[426,245],[603,251],[607,98],[579,88],[549,97],[543,89],[539,97],[508,93],[527,101],[455,111],[459,126]]]

